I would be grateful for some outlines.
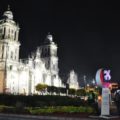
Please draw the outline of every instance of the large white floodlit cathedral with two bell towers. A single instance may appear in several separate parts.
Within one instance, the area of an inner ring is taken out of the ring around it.
[[[37,84],[65,87],[59,77],[57,44],[48,34],[44,44],[20,59],[19,25],[8,10],[0,20],[0,93],[36,94]]]

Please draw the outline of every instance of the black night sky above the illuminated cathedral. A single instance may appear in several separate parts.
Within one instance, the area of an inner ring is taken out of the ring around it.
[[[120,7],[98,0],[0,0],[0,16],[11,6],[20,25],[20,58],[42,45],[48,32],[58,44],[61,77],[71,69],[90,81],[99,68],[120,80]],[[65,79],[65,78],[64,78]]]

